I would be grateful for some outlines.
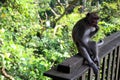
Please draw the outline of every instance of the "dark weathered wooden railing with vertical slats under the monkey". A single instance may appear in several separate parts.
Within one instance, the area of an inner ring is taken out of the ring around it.
[[[120,80],[120,31],[104,39],[99,47],[100,70],[95,75],[78,54],[44,73],[53,80]]]

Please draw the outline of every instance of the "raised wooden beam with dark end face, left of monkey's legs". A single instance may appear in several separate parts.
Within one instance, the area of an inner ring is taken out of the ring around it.
[[[83,63],[83,58],[80,55],[75,55],[57,66],[57,71],[64,73],[72,73],[74,69],[80,67]]]

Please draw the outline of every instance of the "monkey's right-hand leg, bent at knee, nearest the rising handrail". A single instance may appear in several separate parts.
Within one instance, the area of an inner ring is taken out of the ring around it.
[[[94,61],[97,62],[98,67],[100,66],[100,60],[99,60],[99,56],[98,56],[98,45],[95,41],[89,41],[89,47],[91,49],[91,51],[93,52],[94,55]]]

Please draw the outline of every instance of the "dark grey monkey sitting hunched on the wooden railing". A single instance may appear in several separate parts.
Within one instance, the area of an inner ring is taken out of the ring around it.
[[[99,31],[98,20],[97,12],[87,13],[86,17],[76,22],[72,30],[73,42],[76,44],[78,53],[88,62],[95,74],[99,71],[100,61],[98,44],[91,38]]]

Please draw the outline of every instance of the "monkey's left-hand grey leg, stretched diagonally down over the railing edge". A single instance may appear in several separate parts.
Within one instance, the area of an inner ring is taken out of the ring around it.
[[[82,46],[79,46],[78,49],[79,49],[79,53],[88,61],[89,66],[93,68],[94,73],[97,74],[99,69],[97,65],[93,62],[91,57],[89,56],[87,50]]]

